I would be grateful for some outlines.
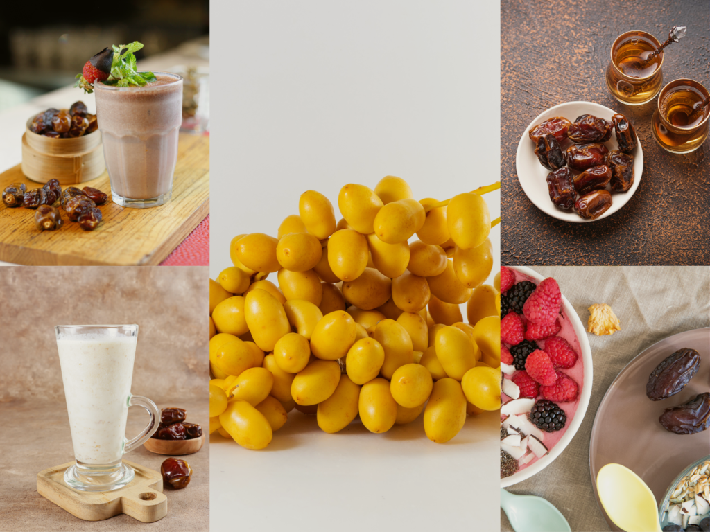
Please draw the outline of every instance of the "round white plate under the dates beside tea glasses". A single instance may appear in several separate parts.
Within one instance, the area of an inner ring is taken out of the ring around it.
[[[631,155],[633,155],[633,185],[631,185],[631,188],[628,189],[627,192],[615,192],[612,194],[611,207],[608,211],[599,216],[599,218],[596,218],[596,220],[582,218],[579,214],[574,212],[574,209],[571,211],[563,211],[550,201],[550,192],[548,192],[547,181],[545,181],[550,170],[547,170],[547,168],[542,166],[540,161],[537,160],[535,144],[532,143],[532,140],[530,140],[528,136],[528,131],[530,131],[533,126],[553,116],[564,116],[564,118],[567,118],[570,122],[574,122],[577,116],[591,114],[611,121],[611,116],[616,114],[616,112],[617,111],[612,111],[603,105],[593,104],[591,101],[568,101],[567,104],[559,104],[550,107],[550,109],[540,113],[535,120],[528,124],[528,127],[523,131],[523,135],[520,137],[520,142],[518,143],[518,152],[515,154],[515,170],[518,172],[520,187],[523,187],[523,192],[525,192],[528,198],[530,198],[530,201],[535,204],[537,209],[540,209],[540,211],[558,220],[584,223],[603,220],[607,216],[611,216],[631,199],[633,193],[638,189],[638,184],[641,182],[641,174],[643,173],[643,149],[641,148],[640,140],[638,140],[638,135],[636,135],[636,148],[634,148],[631,153]],[[603,144],[609,151],[616,150],[618,148],[616,135],[612,133],[611,138]],[[566,140],[562,145],[562,149],[566,150],[571,145],[572,143]],[[607,189],[611,190],[611,187],[607,187]]]

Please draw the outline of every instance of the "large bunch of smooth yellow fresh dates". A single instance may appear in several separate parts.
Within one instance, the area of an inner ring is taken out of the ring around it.
[[[339,222],[310,190],[276,238],[234,237],[234,266],[210,279],[209,432],[262,449],[293,408],[327,433],[358,415],[383,433],[423,410],[427,437],[444,443],[466,414],[499,409],[501,302],[483,284],[481,197],[499,187],[415,201],[398,177],[346,184]]]

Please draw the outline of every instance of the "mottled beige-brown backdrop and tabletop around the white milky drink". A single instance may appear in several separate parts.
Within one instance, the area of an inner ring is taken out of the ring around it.
[[[0,530],[207,530],[209,448],[186,457],[190,485],[165,488],[168,516],[89,523],[40,497],[36,474],[73,460],[55,325],[138,323],[131,392],[159,408],[187,409],[207,433],[207,267],[0,268]],[[147,421],[129,410],[127,437]],[[154,470],[167,457],[145,448],[126,458]]]

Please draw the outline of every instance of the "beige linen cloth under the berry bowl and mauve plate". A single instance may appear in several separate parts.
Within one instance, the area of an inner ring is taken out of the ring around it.
[[[537,475],[509,492],[544,497],[567,518],[574,532],[608,531],[591,487],[589,440],[594,415],[618,372],[638,353],[663,338],[710,325],[709,267],[533,267],[557,279],[562,294],[586,326],[589,306],[606,303],[621,321],[612,336],[588,333],[594,360],[589,408],[572,443]],[[710,442],[708,451],[710,454]],[[501,509],[501,530],[512,531]]]

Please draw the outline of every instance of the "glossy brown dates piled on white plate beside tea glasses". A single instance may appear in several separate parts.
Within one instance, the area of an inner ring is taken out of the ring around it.
[[[618,150],[603,144],[616,135]],[[552,203],[594,220],[611,207],[611,192],[626,192],[633,185],[633,155],[636,133],[623,114],[611,122],[591,114],[574,123],[561,116],[546,120],[528,131],[540,164],[550,170],[547,188]],[[572,145],[563,146],[572,141]],[[575,173],[577,172],[577,173]],[[611,189],[609,192],[608,188]],[[579,196],[579,197],[578,197]]]

